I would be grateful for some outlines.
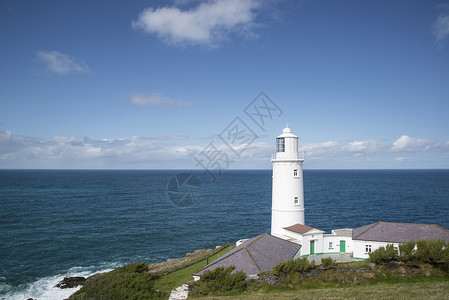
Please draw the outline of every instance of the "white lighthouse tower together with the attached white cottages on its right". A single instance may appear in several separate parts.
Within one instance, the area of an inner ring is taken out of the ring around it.
[[[303,155],[298,153],[298,137],[284,128],[276,138],[273,163],[271,234],[301,244],[301,256],[349,254],[365,259],[379,247],[411,240],[449,242],[449,230],[436,224],[377,222],[356,229],[335,229],[330,234],[305,225]]]

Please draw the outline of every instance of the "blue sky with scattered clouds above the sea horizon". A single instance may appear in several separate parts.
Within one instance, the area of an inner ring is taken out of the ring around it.
[[[0,1],[1,169],[449,168],[449,1]]]

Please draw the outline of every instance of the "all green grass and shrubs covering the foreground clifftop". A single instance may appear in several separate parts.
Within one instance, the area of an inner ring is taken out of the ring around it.
[[[217,268],[193,282],[193,273],[229,250],[226,247],[208,259],[205,253],[188,255],[187,260],[176,262],[176,271],[173,265],[127,265],[88,280],[70,299],[167,299],[183,283],[190,284],[189,297],[208,299],[214,295],[220,299],[231,295],[232,299],[343,299],[367,294],[381,299],[441,299],[449,294],[449,244],[444,241],[412,241],[401,244],[399,251],[388,245],[372,252],[368,260],[351,263],[323,258],[317,266],[298,258],[250,280],[234,266]]]

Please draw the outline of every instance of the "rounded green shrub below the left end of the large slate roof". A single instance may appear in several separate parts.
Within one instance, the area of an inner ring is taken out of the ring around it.
[[[208,295],[231,289],[245,288],[246,273],[243,271],[234,272],[234,270],[235,266],[229,266],[207,271],[193,287],[193,293]]]

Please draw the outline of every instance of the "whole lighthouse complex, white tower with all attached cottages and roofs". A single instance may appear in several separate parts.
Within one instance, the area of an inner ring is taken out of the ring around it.
[[[305,225],[303,156],[298,154],[298,137],[284,128],[276,138],[273,155],[273,195],[271,235],[264,233],[239,240],[236,248],[217,258],[194,274],[198,280],[206,271],[235,266],[249,277],[272,270],[280,262],[301,256],[345,254],[339,259],[365,259],[381,246],[411,240],[449,242],[449,230],[436,224],[377,222],[359,228],[335,229],[326,234]]]

